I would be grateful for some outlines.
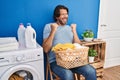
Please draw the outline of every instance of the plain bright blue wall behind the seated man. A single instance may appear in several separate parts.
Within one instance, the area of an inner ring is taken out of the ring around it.
[[[53,22],[53,9],[57,4],[69,8],[68,24],[76,23],[79,38],[85,29],[97,35],[100,0],[0,0],[0,37],[17,37],[19,23],[30,22],[42,44],[42,33],[46,23]]]

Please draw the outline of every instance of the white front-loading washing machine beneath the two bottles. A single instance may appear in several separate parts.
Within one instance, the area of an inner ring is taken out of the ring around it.
[[[0,80],[10,80],[14,74],[24,71],[27,80],[44,80],[43,48],[18,49],[0,52]]]

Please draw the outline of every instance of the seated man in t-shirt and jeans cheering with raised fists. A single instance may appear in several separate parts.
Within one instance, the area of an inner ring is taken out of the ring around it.
[[[58,43],[81,43],[76,32],[76,24],[66,25],[68,13],[67,7],[56,6],[53,16],[55,23],[46,24],[43,31],[43,49],[49,56],[51,69],[61,80],[74,80],[73,73],[82,74],[86,80],[96,80],[96,71],[89,64],[73,69],[65,69],[56,64],[55,54],[51,51],[53,46]]]

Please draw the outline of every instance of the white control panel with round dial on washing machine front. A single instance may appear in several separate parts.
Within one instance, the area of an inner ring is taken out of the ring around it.
[[[0,66],[43,60],[43,48],[23,49],[0,53]]]

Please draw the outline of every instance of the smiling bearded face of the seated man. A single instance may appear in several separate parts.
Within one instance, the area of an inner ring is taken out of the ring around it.
[[[68,13],[66,9],[60,9],[60,16],[56,18],[57,23],[60,25],[65,25],[68,20]]]

